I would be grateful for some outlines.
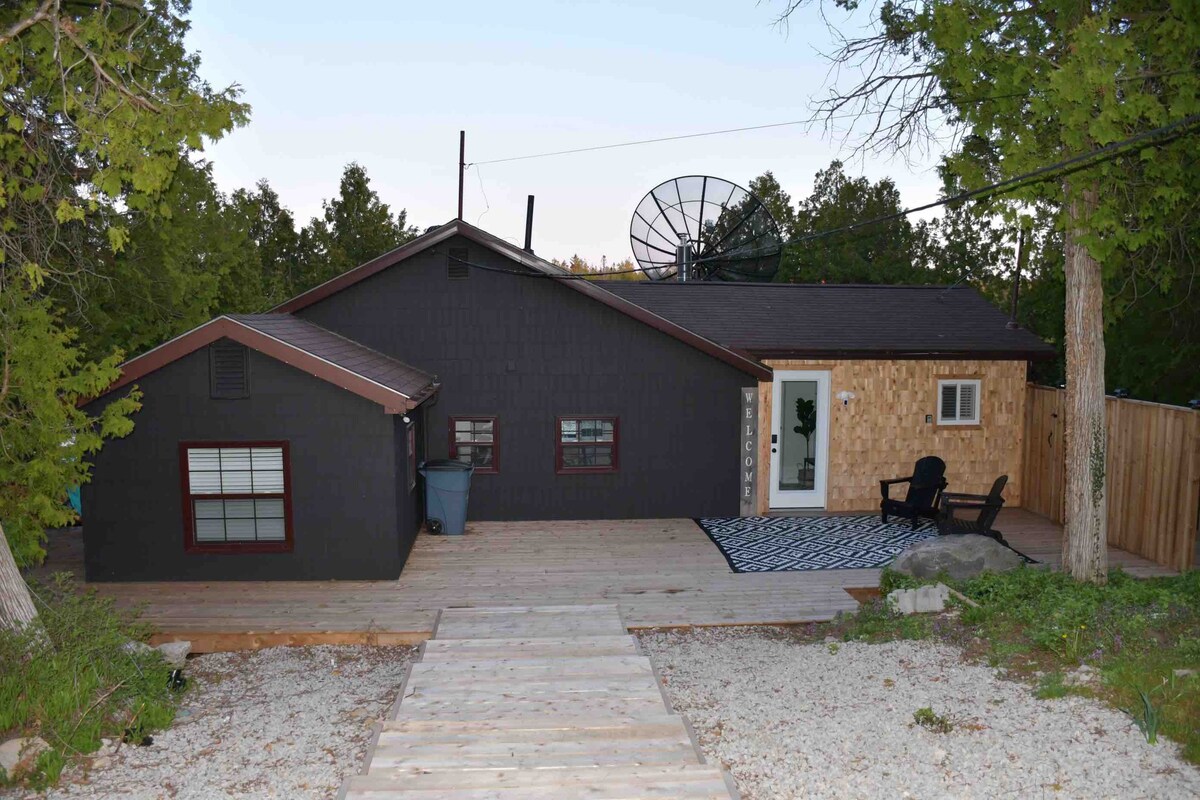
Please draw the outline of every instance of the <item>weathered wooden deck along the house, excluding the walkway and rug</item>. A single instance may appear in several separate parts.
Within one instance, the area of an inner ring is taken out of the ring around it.
[[[1020,509],[997,527],[1013,547],[1058,564],[1058,525]],[[1139,576],[1170,575],[1110,548]],[[56,534],[40,572],[79,572],[78,534]],[[846,589],[878,585],[880,570],[734,575],[690,519],[475,523],[466,536],[418,539],[397,581],[91,584],[142,604],[158,640],[198,651],[276,644],[412,644],[427,639],[440,608],[617,603],[630,627],[820,621],[856,601]]]

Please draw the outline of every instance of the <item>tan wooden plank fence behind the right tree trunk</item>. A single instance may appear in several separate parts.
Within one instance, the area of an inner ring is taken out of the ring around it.
[[[1063,522],[1066,392],[1030,386],[1022,505]],[[1109,397],[1109,545],[1171,567],[1193,566],[1200,518],[1200,411]]]

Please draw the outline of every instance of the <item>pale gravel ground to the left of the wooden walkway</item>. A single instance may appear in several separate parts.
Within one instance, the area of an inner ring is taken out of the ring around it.
[[[188,661],[192,686],[168,730],[72,769],[44,795],[210,800],[325,799],[359,768],[412,648],[311,646]]]

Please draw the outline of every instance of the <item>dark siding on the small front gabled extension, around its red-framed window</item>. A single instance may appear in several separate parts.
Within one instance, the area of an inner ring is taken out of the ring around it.
[[[397,417],[257,351],[250,363],[244,399],[209,397],[206,348],[138,381],[145,398],[133,433],[104,445],[83,488],[89,581],[400,575],[412,542],[397,540]],[[185,553],[179,443],[264,439],[290,443],[294,551]]]

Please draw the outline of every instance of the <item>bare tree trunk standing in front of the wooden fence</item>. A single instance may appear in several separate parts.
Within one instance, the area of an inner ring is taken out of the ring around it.
[[[1108,512],[1104,501],[1104,287],[1100,265],[1080,243],[1081,219],[1096,207],[1096,191],[1066,186],[1067,237],[1067,488],[1062,566],[1073,578],[1108,579]]]

